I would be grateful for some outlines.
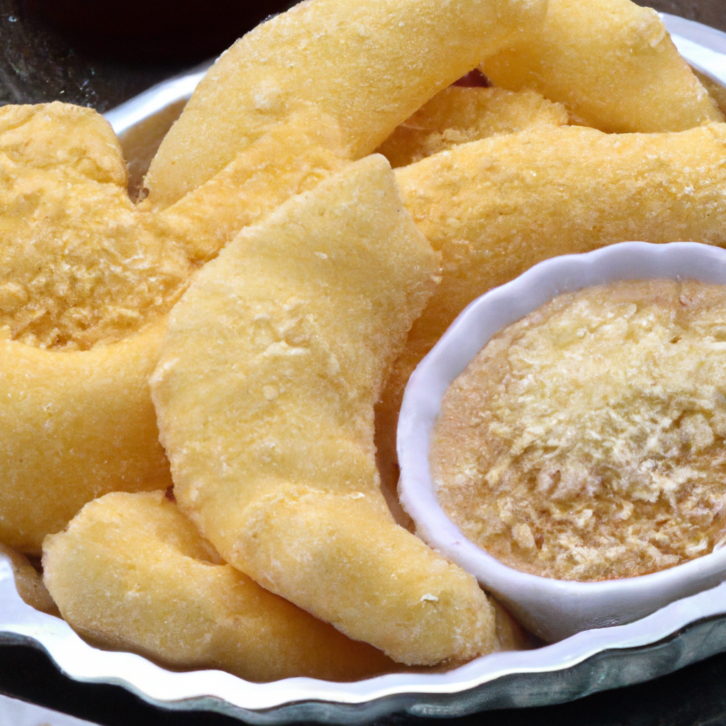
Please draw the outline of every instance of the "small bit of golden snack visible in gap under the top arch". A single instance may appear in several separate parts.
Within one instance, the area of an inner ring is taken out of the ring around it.
[[[378,152],[396,168],[456,144],[513,134],[539,124],[562,126],[567,121],[562,104],[534,91],[449,86],[396,126]]]

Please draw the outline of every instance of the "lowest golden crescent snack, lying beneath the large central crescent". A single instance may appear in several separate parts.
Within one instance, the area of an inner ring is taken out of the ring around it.
[[[43,550],[63,617],[102,648],[252,681],[358,680],[399,667],[225,564],[164,492],[96,499]]]

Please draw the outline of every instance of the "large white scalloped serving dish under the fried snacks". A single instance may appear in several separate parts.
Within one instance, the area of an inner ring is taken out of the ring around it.
[[[726,85],[726,33],[671,15],[664,20],[685,57]],[[122,134],[188,98],[199,78],[192,73],[161,83],[107,118]],[[258,684],[220,671],[171,672],[132,653],[91,648],[62,620],[25,605],[9,564],[0,558],[0,643],[45,650],[68,677],[121,685],[163,709],[218,711],[255,724],[363,724],[395,711],[456,717],[569,701],[649,680],[726,650],[726,584],[628,625],[587,630],[537,650],[494,653],[446,673],[388,674],[355,683],[291,678]]]

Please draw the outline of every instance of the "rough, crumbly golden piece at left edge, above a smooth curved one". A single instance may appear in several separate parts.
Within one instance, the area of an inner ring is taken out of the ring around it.
[[[0,109],[0,335],[88,349],[165,314],[183,250],[144,227],[113,131],[88,108]]]

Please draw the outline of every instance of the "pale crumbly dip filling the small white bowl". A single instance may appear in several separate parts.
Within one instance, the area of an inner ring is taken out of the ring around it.
[[[643,575],[726,539],[726,287],[566,293],[497,334],[431,441],[444,511],[505,564]]]

